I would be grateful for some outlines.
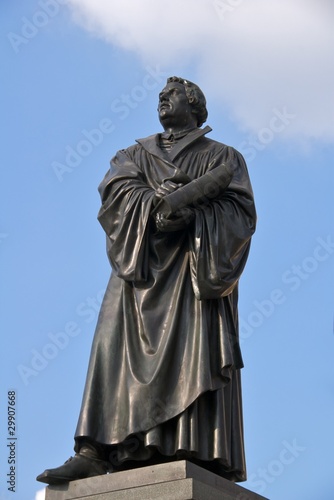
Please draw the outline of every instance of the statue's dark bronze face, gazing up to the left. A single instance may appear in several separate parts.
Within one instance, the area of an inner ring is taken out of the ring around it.
[[[159,94],[159,119],[162,126],[187,127],[196,121],[188,102],[186,91],[181,83],[167,83]]]

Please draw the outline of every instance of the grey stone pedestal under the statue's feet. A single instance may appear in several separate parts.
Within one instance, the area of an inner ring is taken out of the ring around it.
[[[266,500],[186,460],[48,486],[46,500]]]

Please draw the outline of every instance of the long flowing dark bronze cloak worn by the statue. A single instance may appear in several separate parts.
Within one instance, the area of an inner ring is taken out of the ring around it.
[[[75,434],[128,460],[191,457],[246,479],[238,342],[238,281],[255,229],[247,168],[196,129],[170,153],[159,134],[119,151],[99,186],[98,219],[112,274],[92,345]],[[229,163],[224,192],[192,209],[183,230],[158,232],[155,191]],[[117,450],[113,452],[112,450]],[[163,459],[162,459],[163,461]]]

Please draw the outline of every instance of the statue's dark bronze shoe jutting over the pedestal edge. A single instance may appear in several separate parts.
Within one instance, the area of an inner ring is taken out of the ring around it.
[[[63,484],[75,479],[100,476],[109,472],[110,465],[104,460],[88,458],[84,455],[76,454],[66,460],[64,465],[56,469],[46,469],[37,476],[37,481],[47,484]]]

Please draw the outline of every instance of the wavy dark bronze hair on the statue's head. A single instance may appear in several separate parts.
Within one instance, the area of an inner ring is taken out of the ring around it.
[[[184,89],[184,94],[186,96],[185,102],[187,103],[188,101],[186,107],[189,107],[189,114],[191,113],[192,116],[195,115],[195,126],[197,125],[197,127],[200,127],[203,125],[208,117],[206,99],[201,89],[195,83],[185,80],[179,76],[171,76],[170,78],[167,78],[166,86],[160,93],[160,100],[163,98],[166,91],[173,86],[173,84],[176,87]],[[160,121],[163,121],[163,118],[162,114],[160,114]]]

